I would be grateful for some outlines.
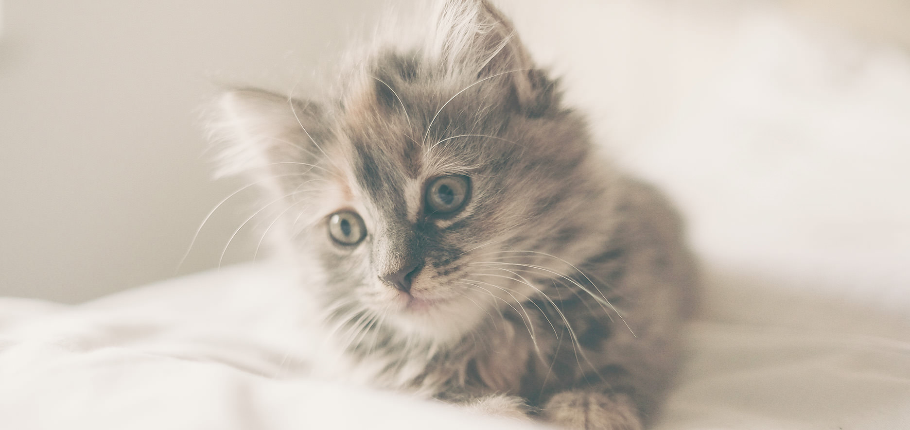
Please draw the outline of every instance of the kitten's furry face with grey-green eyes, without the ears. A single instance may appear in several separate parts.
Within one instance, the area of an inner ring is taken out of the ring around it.
[[[558,248],[574,244],[557,238],[588,228],[591,219],[579,218],[585,195],[574,194],[589,186],[577,172],[578,124],[555,109],[527,117],[508,81],[451,98],[476,80],[427,82],[394,67],[370,75],[378,80],[349,96],[356,104],[331,115],[336,131],[320,143],[327,155],[312,163],[325,168],[311,173],[330,191],[312,202],[319,210],[300,244],[328,271],[329,300],[445,339],[539,296],[535,288],[550,285],[521,264],[541,255],[513,251],[565,255]],[[393,94],[382,91],[389,87]],[[560,263],[545,265],[564,270]]]

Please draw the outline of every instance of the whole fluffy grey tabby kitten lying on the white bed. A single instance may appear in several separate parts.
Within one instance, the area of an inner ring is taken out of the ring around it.
[[[594,154],[487,1],[441,5],[338,99],[220,99],[227,172],[280,204],[339,375],[497,415],[636,429],[693,305],[681,223]]]

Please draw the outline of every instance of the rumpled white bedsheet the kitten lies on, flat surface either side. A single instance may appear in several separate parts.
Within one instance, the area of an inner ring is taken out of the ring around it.
[[[299,289],[286,275],[259,263],[83,305],[0,299],[0,423],[9,429],[532,427],[308,379],[300,364],[312,344],[298,325]],[[657,428],[910,425],[905,319],[769,291],[742,274],[714,274],[709,285],[713,310],[691,327],[687,364]],[[730,285],[738,285],[735,292]]]

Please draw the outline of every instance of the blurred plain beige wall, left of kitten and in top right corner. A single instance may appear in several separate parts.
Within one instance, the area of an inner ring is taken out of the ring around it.
[[[778,1],[910,46],[905,0]],[[5,2],[0,295],[77,302],[216,266],[248,195],[216,213],[177,267],[207,212],[242,185],[209,179],[198,109],[212,83],[305,93],[311,71],[384,3]],[[224,263],[252,258],[257,242],[241,231]]]

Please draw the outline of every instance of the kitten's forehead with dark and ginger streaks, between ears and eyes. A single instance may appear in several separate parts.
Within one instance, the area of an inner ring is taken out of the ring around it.
[[[459,78],[414,58],[374,59],[351,79],[339,115],[360,198],[380,216],[410,222],[418,220],[432,178],[471,175],[501,156],[493,149],[501,145],[486,145],[483,136],[498,138],[508,117],[500,85],[474,85],[476,73]]]

